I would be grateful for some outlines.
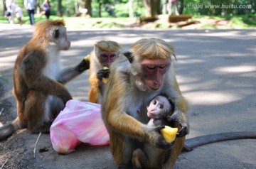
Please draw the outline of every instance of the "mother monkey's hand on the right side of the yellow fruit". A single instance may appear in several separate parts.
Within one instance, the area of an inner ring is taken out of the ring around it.
[[[175,126],[175,127],[178,127],[178,132],[176,134],[176,137],[183,137],[183,136],[186,136],[186,134],[188,134],[189,125],[188,125],[186,115],[183,112],[176,110],[174,111],[174,114],[172,114],[167,118],[167,120],[169,122],[179,124],[178,126]]]

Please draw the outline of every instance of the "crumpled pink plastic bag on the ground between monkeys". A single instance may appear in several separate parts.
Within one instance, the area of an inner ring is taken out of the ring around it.
[[[80,143],[103,146],[110,143],[100,113],[100,104],[70,100],[50,126],[50,140],[58,153],[71,153]]]

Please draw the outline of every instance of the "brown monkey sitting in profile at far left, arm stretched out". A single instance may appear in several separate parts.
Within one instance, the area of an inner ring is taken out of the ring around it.
[[[50,131],[50,124],[72,99],[64,84],[90,67],[89,61],[82,60],[74,67],[63,68],[59,53],[69,48],[63,20],[36,24],[33,37],[23,45],[14,65],[17,117],[0,128],[0,140],[19,129],[27,128],[32,133]]]

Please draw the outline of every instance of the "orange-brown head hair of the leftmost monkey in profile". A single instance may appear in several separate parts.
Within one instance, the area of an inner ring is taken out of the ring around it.
[[[57,26],[65,26],[64,20],[55,20],[55,21],[41,21],[36,23],[36,28],[33,33],[33,38],[48,40],[49,39],[49,29]]]

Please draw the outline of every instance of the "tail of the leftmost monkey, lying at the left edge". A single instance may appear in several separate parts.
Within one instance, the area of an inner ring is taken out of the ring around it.
[[[4,139],[9,138],[11,134],[23,128],[24,127],[18,118],[9,124],[4,124],[4,126],[0,127],[0,141],[3,141]]]

